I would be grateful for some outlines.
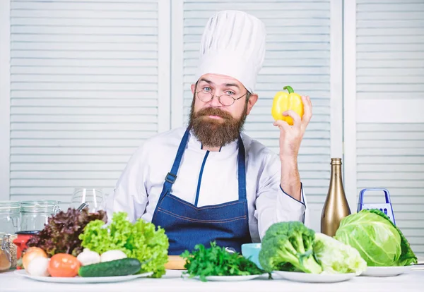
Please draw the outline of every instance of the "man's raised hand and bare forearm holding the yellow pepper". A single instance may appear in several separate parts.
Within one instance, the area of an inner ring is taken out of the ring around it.
[[[293,126],[285,121],[275,121],[280,128],[281,188],[288,195],[300,200],[300,176],[298,171],[298,153],[307,125],[312,118],[310,97],[302,95],[304,114],[302,118],[295,111],[285,111],[283,116],[293,118]]]

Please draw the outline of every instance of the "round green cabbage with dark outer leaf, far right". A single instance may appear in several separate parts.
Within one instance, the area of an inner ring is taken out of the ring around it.
[[[334,237],[358,250],[368,266],[417,263],[404,234],[379,209],[363,209],[343,218]]]

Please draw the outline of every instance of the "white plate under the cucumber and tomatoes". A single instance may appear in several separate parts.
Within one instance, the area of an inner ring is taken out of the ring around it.
[[[43,281],[43,282],[53,282],[53,283],[69,283],[69,284],[86,284],[86,283],[110,283],[110,282],[122,282],[129,281],[145,276],[150,276],[153,272],[129,275],[129,276],[96,276],[96,277],[81,277],[74,276],[73,278],[66,277],[56,277],[56,276],[31,276],[28,274],[25,269],[18,269],[15,271],[15,274],[20,276],[25,276],[26,278]]]

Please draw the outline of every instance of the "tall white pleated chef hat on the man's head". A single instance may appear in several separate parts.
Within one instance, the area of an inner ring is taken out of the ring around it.
[[[220,11],[209,18],[200,44],[196,80],[212,73],[228,75],[254,92],[265,56],[266,30],[242,11]]]

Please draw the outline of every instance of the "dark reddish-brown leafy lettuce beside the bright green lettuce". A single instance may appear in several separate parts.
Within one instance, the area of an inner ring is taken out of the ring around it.
[[[95,220],[105,224],[106,212],[89,213],[88,208],[81,211],[69,208],[66,212],[49,217],[44,229],[32,236],[27,245],[42,248],[49,257],[57,253],[69,253],[76,257],[83,251],[78,236],[90,221]]]

